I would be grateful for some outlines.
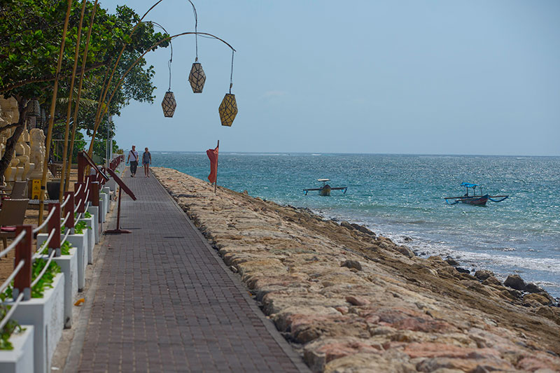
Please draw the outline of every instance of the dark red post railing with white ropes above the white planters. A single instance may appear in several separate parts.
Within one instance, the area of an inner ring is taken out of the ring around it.
[[[0,284],[0,293],[10,285],[13,281],[13,300],[14,304],[10,311],[0,321],[0,330],[9,321],[18,304],[22,300],[31,299],[31,288],[41,279],[46,269],[50,265],[52,258],[60,256],[60,247],[64,244],[69,234],[74,233],[76,221],[80,216],[87,211],[91,206],[99,206],[99,185],[109,180],[100,169],[89,157],[78,155],[78,182],[74,184],[73,192],[65,192],[64,200],[61,203],[51,202],[49,204],[49,213],[47,218],[34,228],[31,225],[19,225],[15,228],[15,239],[12,243],[0,252],[0,258],[7,255],[10,251],[15,250],[14,270],[8,276],[8,279]],[[123,162],[124,155],[116,157],[109,167],[116,169],[120,162]],[[95,167],[96,172],[84,178],[84,172],[87,165]],[[76,213],[77,216],[74,216]],[[100,217],[99,217],[100,218]],[[41,232],[46,227],[48,233],[47,239],[37,249],[35,255],[33,254],[33,237],[38,232]],[[61,227],[65,227],[64,237],[61,237]],[[41,256],[41,253],[48,248],[48,262],[43,268],[41,274],[31,282],[31,267],[34,260]]]

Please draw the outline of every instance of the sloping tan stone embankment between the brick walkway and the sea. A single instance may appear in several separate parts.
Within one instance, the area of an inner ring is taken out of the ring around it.
[[[360,225],[153,171],[311,370],[560,371],[558,302],[519,276],[472,276]]]

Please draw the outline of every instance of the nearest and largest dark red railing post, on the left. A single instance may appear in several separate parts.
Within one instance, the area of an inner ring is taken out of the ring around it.
[[[20,272],[13,279],[12,295],[14,300],[18,298],[21,292],[23,292],[24,300],[31,299],[31,267],[33,265],[31,262],[31,243],[33,242],[31,225],[18,225],[15,227],[15,237],[18,237],[23,231],[25,231],[25,237],[15,246],[14,268],[20,264],[21,260],[25,260],[25,262]]]

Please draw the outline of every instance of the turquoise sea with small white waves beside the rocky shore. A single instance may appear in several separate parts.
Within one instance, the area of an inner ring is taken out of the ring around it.
[[[153,166],[207,180],[206,153],[152,157]],[[318,178],[348,192],[305,196]],[[463,181],[510,198],[447,205],[443,197],[463,195]],[[519,274],[560,297],[560,157],[221,153],[218,185],[365,224],[422,256],[451,255],[501,279]]]

